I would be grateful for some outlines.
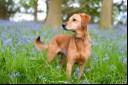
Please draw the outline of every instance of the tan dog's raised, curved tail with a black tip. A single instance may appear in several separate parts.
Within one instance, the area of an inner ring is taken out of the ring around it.
[[[38,50],[47,50],[48,48],[48,45],[43,45],[43,43],[40,41],[40,36],[38,36],[35,40],[35,47],[38,49]]]

